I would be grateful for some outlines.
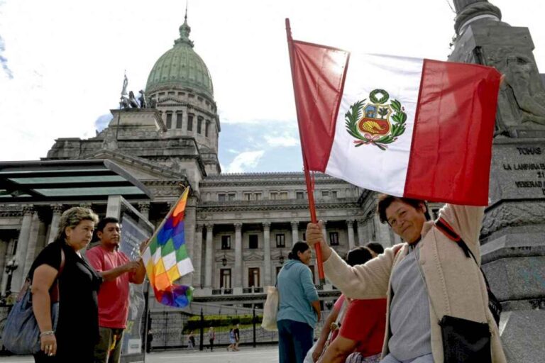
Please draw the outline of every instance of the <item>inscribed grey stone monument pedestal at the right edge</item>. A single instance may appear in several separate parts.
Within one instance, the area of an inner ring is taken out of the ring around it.
[[[500,335],[509,362],[545,357],[545,138],[496,138],[483,271],[502,302]]]

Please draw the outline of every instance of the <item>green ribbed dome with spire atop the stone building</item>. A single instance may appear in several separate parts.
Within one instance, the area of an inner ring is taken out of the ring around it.
[[[214,99],[214,86],[207,65],[193,50],[189,40],[191,28],[187,25],[187,16],[180,26],[180,38],[174,47],[163,54],[151,69],[145,93],[151,94],[160,89],[190,88],[202,92]]]

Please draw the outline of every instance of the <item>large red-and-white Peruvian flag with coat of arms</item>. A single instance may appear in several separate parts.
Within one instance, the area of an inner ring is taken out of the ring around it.
[[[290,39],[307,169],[365,189],[485,206],[501,74]]]

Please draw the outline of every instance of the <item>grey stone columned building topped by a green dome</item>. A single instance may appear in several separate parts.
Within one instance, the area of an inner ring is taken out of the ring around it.
[[[33,164],[50,166],[57,173],[82,167],[79,175],[92,172],[89,163],[98,162],[116,173],[111,177],[114,184],[77,194],[109,180],[94,178],[82,183],[82,189],[72,188],[75,194],[70,196],[63,192],[33,203],[19,198],[17,203],[0,204],[0,238],[6,242],[0,245],[6,251],[0,250],[0,268],[12,259],[16,266],[10,270],[9,284],[4,274],[2,294],[10,291],[9,285],[18,291],[35,255],[53,240],[65,209],[87,206],[101,217],[111,216],[109,199],[119,194],[130,203],[124,211],[156,228],[185,186],[191,186],[185,239],[194,272],[181,282],[195,290],[194,303],[186,310],[232,315],[263,308],[263,287],[275,284],[293,243],[305,239],[309,211],[304,175],[221,174],[214,86],[207,65],[194,51],[190,31],[186,16],[180,38],[151,68],[145,86],[148,107],[112,109],[108,127],[94,138],[59,138],[47,157]],[[119,177],[132,180],[132,186],[121,187],[121,181],[115,181]],[[146,192],[138,194],[135,188]],[[395,242],[356,186],[317,174],[315,196],[317,213],[326,222],[324,234],[341,255],[368,240]],[[318,285],[314,263],[311,269]],[[339,294],[329,284],[318,286],[322,301],[331,302]],[[179,311],[157,303],[153,293],[149,303],[154,331],[179,316]],[[180,345],[180,332],[164,342],[154,339],[153,344]]]

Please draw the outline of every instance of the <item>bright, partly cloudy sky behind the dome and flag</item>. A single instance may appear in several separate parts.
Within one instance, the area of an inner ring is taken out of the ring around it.
[[[534,0],[496,0],[528,27],[545,72]],[[532,11],[532,9],[534,11]],[[185,0],[0,0],[0,160],[38,160],[56,138],[90,138],[179,37]],[[298,172],[301,147],[285,18],[294,39],[353,52],[446,60],[452,0],[189,0],[194,50],[221,122],[223,172]]]

